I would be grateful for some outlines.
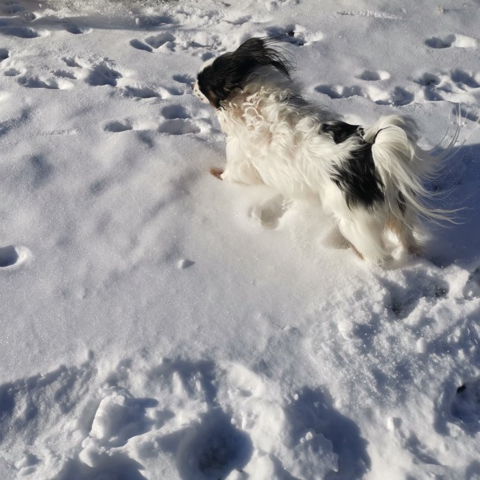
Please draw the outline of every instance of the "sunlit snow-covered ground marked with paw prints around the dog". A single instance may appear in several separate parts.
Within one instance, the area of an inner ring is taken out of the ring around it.
[[[0,0],[1,479],[480,478],[480,2]],[[200,64],[286,34],[351,123],[461,142],[425,258],[219,182]]]

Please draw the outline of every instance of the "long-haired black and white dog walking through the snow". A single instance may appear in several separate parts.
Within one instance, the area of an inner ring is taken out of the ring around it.
[[[424,182],[437,164],[418,148],[415,123],[390,115],[363,128],[329,118],[298,95],[291,65],[273,43],[250,38],[205,62],[192,85],[215,108],[227,135],[226,167],[211,173],[320,202],[369,261],[389,259],[387,230],[408,252],[419,252],[413,236],[418,217],[439,220],[448,212],[428,205]]]

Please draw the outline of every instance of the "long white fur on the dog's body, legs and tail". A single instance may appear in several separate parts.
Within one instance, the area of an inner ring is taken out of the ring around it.
[[[373,143],[372,156],[385,201],[368,208],[361,202],[349,207],[331,173],[335,165],[349,158],[361,139],[351,136],[335,143],[331,136],[319,134],[324,114],[292,96],[285,82],[277,80],[268,75],[252,77],[242,91],[216,110],[226,133],[227,164],[221,178],[264,183],[290,199],[320,202],[333,215],[342,235],[368,261],[383,263],[389,258],[386,230],[393,230],[409,252],[418,252],[413,237],[418,216],[444,219],[446,212],[424,203],[430,195],[423,182],[433,176],[438,165],[416,146],[413,121],[390,115],[365,130],[363,139]],[[204,97],[195,86],[197,96]],[[398,191],[405,198],[405,209],[398,204]]]

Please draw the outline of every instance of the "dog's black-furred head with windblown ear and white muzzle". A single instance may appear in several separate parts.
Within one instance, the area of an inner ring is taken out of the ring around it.
[[[273,67],[290,78],[290,64],[282,53],[270,47],[273,42],[269,38],[250,38],[237,50],[208,60],[192,84],[193,93],[204,103],[220,108],[222,101],[245,87],[259,67]]]

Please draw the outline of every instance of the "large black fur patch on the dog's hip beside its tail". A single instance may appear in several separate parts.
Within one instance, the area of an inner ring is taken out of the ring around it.
[[[333,167],[331,179],[344,193],[348,208],[365,208],[383,202],[383,183],[375,171],[372,144],[361,143],[341,165]]]

